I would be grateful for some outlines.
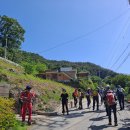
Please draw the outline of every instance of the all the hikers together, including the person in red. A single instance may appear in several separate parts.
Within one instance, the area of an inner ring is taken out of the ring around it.
[[[25,90],[23,90],[20,94],[20,101],[22,102],[21,107],[21,116],[22,122],[25,121],[26,111],[28,110],[28,124],[31,124],[31,116],[32,116],[32,103],[35,99],[35,93],[31,91],[30,86],[26,86]],[[120,110],[124,109],[124,89],[118,85],[116,90],[111,90],[110,86],[107,85],[106,87],[97,87],[96,89],[88,88],[86,92],[82,92],[81,89],[75,88],[74,92],[72,93],[74,99],[74,107],[78,108],[79,110],[83,109],[82,99],[86,97],[87,99],[87,108],[90,109],[91,100],[93,102],[92,109],[93,111],[99,110],[99,100],[101,99],[101,104],[104,103],[106,109],[106,116],[108,116],[109,125],[112,125],[111,122],[111,113],[113,111],[114,114],[114,122],[115,126],[117,126],[117,100],[119,101]],[[62,113],[63,115],[65,112],[69,115],[68,110],[68,93],[65,89],[62,89],[62,93],[60,95],[60,100],[62,102]],[[96,106],[96,107],[95,107]]]

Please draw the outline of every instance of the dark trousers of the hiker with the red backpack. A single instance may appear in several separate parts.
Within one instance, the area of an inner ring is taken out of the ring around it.
[[[109,123],[111,123],[111,113],[113,111],[114,114],[114,122],[117,124],[117,109],[116,109],[116,104],[108,106],[108,119]]]

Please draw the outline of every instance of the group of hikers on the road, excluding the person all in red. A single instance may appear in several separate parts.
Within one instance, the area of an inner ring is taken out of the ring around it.
[[[74,106],[76,108],[83,109],[82,99],[86,97],[87,99],[87,108],[90,108],[91,100],[92,110],[99,110],[99,100],[101,99],[101,104],[104,104],[106,110],[106,116],[108,116],[109,123],[108,125],[112,125],[111,113],[113,111],[114,114],[114,125],[117,126],[117,100],[119,101],[120,110],[124,109],[124,89],[118,85],[116,90],[111,90],[110,86],[106,87],[97,87],[96,89],[88,88],[85,93],[81,91],[81,89],[75,89],[72,93],[74,99]],[[67,115],[69,114],[68,110],[68,94],[65,89],[62,90],[61,94],[62,100],[62,113],[65,114],[65,109]]]

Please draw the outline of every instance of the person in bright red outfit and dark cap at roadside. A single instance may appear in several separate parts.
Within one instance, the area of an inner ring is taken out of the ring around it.
[[[35,93],[31,92],[31,87],[26,86],[25,91],[21,92],[20,98],[21,101],[23,102],[22,104],[22,122],[25,121],[25,116],[26,116],[26,111],[28,110],[28,124],[31,125],[31,116],[32,116],[32,102],[33,99],[35,98]]]

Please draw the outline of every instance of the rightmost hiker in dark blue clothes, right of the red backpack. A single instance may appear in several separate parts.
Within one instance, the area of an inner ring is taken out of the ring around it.
[[[118,97],[120,110],[124,109],[124,91],[125,90],[120,85],[118,85],[116,94],[117,94],[117,97]]]

